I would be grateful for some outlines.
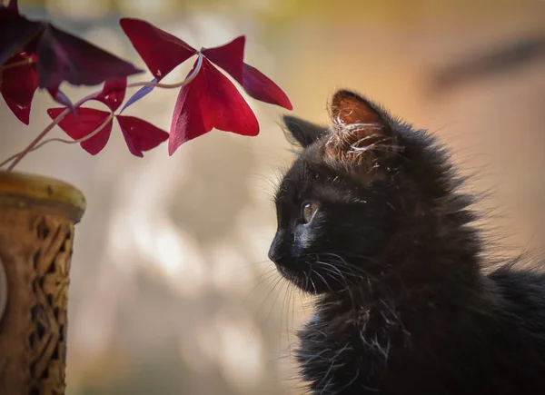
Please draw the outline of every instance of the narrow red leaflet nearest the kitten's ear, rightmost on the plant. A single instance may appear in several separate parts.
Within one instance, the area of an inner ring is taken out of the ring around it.
[[[282,89],[250,64],[244,64],[243,88],[247,94],[261,102],[277,104],[287,110],[293,109],[292,102]]]

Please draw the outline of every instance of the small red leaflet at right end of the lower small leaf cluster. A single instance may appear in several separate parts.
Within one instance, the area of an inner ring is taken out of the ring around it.
[[[168,139],[168,133],[134,116],[116,115],[117,122],[129,151],[134,156],[144,157],[144,151],[155,148]]]

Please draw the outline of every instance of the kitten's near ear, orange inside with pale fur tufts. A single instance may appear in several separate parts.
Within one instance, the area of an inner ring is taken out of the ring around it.
[[[386,115],[359,94],[338,91],[332,97],[330,113],[332,133],[325,149],[330,162],[372,167],[379,154],[399,149]]]

